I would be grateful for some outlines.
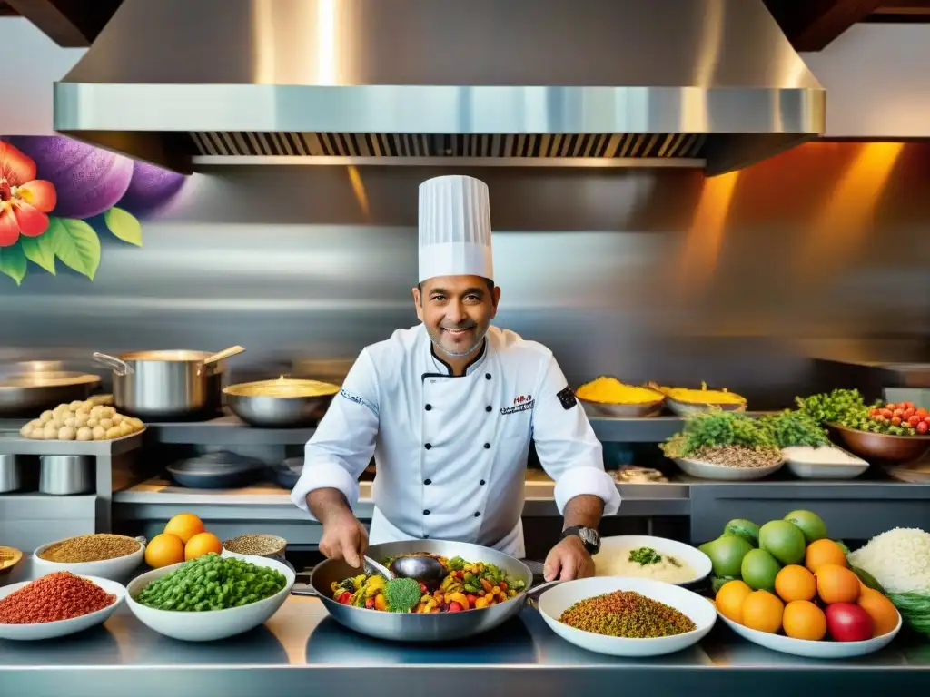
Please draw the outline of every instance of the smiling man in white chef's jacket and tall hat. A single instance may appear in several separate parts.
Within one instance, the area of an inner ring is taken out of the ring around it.
[[[551,350],[491,326],[499,299],[487,186],[460,176],[423,182],[420,323],[362,351],[307,443],[291,493],[323,524],[327,557],[361,566],[368,541],[352,506],[372,455],[372,544],[456,540],[524,556],[532,440],[565,519],[546,578],[593,573],[597,526],[617,512],[617,486]]]

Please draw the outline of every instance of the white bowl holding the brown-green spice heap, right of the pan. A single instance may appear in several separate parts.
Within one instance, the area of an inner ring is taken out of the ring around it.
[[[578,600],[631,590],[665,603],[684,613],[697,625],[694,631],[674,637],[624,638],[604,637],[559,622],[562,613]],[[551,630],[576,646],[609,656],[661,656],[693,646],[711,631],[717,612],[711,601],[678,585],[663,584],[644,578],[582,578],[565,581],[544,591],[538,600],[539,613]]]

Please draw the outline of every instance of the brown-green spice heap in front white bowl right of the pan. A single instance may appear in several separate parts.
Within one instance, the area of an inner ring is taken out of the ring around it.
[[[626,638],[673,637],[697,626],[674,608],[626,590],[579,600],[559,620],[586,632]]]

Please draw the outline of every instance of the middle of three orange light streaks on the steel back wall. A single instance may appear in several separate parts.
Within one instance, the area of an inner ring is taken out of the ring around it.
[[[679,290],[694,293],[711,280],[720,262],[726,216],[737,188],[739,172],[704,180],[694,221],[684,241],[676,282]]]

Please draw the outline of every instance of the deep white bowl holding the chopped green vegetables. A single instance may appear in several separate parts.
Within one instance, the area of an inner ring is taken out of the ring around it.
[[[142,588],[151,584],[155,579],[161,578],[168,572],[179,568],[180,564],[166,566],[153,572],[143,573],[127,588],[126,604],[129,610],[139,618],[143,625],[164,634],[166,637],[182,639],[184,641],[215,641],[221,638],[234,637],[237,634],[254,629],[264,624],[272,614],[284,604],[294,585],[296,577],[294,572],[284,564],[264,557],[242,557],[256,566],[266,566],[285,575],[286,585],[271,598],[243,605],[240,608],[228,610],[212,610],[208,612],[179,612],[174,610],[156,610],[136,602],[135,599]]]

